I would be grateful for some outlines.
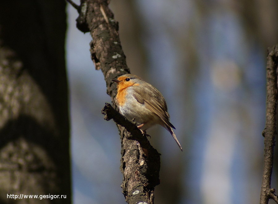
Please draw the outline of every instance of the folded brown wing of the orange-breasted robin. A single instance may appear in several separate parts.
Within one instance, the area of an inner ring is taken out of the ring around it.
[[[150,84],[144,84],[142,86],[134,87],[134,98],[141,104],[144,104],[147,109],[151,110],[154,114],[165,123],[166,126],[175,127],[169,122],[169,114],[167,112],[167,105],[162,94]],[[146,88],[147,86],[148,89]],[[144,96],[144,98],[143,98]],[[169,129],[167,127],[167,129]],[[171,129],[171,128],[170,128]]]

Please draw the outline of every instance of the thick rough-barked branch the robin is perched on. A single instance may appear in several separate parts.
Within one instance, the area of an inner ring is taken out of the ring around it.
[[[77,27],[92,36],[91,58],[96,70],[101,70],[111,96],[113,107],[118,110],[115,97],[116,85],[111,81],[130,73],[120,44],[118,22],[108,8],[107,0],[81,0]],[[121,137],[121,187],[127,203],[154,203],[154,187],[159,184],[160,154],[145,135],[121,116],[110,104],[102,112],[106,120],[113,119]]]

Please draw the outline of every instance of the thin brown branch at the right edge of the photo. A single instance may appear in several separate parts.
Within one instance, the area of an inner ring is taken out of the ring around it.
[[[276,202],[275,190],[271,189],[271,175],[273,167],[273,151],[276,133],[276,106],[277,106],[277,65],[278,46],[268,50],[267,54],[267,102],[266,124],[262,132],[264,136],[264,163],[261,186],[260,204],[267,204],[269,198]],[[278,202],[277,202],[278,203]]]

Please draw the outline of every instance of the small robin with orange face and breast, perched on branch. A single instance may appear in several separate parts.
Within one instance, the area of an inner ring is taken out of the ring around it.
[[[116,101],[122,115],[130,121],[135,118],[134,121],[141,130],[147,130],[156,124],[161,125],[171,133],[182,150],[172,130],[175,127],[169,121],[165,99],[154,86],[133,74],[124,74],[111,80],[117,83]]]

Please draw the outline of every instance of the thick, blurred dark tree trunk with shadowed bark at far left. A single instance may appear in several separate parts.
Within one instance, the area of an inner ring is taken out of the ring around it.
[[[3,1],[0,28],[0,203],[70,203],[65,2]]]

